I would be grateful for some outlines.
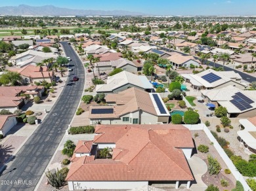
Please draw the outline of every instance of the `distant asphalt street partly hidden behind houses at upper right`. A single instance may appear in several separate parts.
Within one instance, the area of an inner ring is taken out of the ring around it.
[[[152,45],[152,46],[157,46],[156,44],[150,44],[150,45]],[[161,47],[161,46],[158,46],[159,48],[161,48],[162,50],[165,50],[165,51],[167,51],[167,52],[169,52],[170,50],[169,50],[169,48],[164,48],[164,47]],[[180,53],[180,54],[182,54],[182,55],[184,55],[184,56],[186,56],[186,55],[188,55],[188,54],[185,54],[185,53],[183,53],[183,52],[179,52],[179,51],[177,51],[177,50],[172,50],[171,49],[171,52],[178,52],[178,53]],[[198,58],[197,56],[194,56],[195,58]],[[200,58],[198,58],[199,60],[200,60]],[[209,65],[211,65],[211,66],[214,66],[214,63],[213,63],[213,61],[209,61]],[[223,67],[223,65],[221,65],[221,64],[219,64],[219,63],[215,63],[215,67]],[[230,67],[226,67],[225,65],[224,65],[224,71],[235,71],[236,73],[238,73],[245,81],[247,81],[247,82],[253,82],[253,81],[256,81],[256,78],[255,77],[252,77],[251,75],[247,75],[247,73],[244,73],[244,72],[242,72],[242,71],[237,71],[236,69],[232,69],[232,68],[230,68]]]

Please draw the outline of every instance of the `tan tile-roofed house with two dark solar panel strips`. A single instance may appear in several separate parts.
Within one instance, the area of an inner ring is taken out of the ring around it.
[[[157,124],[167,123],[169,112],[159,94],[129,88],[118,94],[108,94],[108,106],[89,109],[91,124]]]

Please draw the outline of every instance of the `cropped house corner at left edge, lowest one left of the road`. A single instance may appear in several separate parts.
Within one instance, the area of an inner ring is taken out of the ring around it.
[[[0,135],[5,136],[17,124],[16,114],[0,115]]]

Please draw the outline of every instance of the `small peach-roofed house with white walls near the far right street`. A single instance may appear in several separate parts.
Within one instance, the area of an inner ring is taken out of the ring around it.
[[[194,56],[183,56],[182,54],[173,54],[167,58],[175,67],[190,67],[190,65],[200,66],[200,61]]]

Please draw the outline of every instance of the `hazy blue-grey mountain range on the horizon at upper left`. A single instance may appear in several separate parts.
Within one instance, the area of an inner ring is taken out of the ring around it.
[[[5,15],[26,15],[26,16],[107,16],[107,15],[144,15],[142,12],[131,12],[127,10],[83,10],[67,9],[45,5],[41,7],[32,7],[29,5],[18,5],[18,7],[7,6],[0,7],[0,14]]]

